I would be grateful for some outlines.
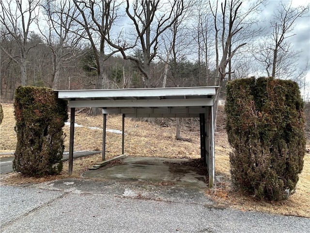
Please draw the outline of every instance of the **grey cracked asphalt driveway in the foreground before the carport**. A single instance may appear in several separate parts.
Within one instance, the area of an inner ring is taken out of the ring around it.
[[[0,186],[1,233],[305,233],[310,219],[214,208],[200,189],[66,179]]]

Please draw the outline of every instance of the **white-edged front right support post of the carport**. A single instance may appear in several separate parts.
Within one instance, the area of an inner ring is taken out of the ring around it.
[[[208,174],[209,187],[215,185],[214,116],[213,106],[208,108]]]

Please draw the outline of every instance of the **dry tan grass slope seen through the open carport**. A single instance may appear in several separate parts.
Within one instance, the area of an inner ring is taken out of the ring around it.
[[[76,115],[76,123],[88,127],[102,128],[102,116]],[[122,130],[122,117],[108,116],[107,129]],[[69,135],[69,126],[64,127]],[[198,158],[200,154],[199,133],[186,132],[192,142],[174,140],[174,127],[161,127],[156,124],[125,119],[125,154],[136,156]],[[68,150],[69,137],[65,139],[65,148]],[[78,127],[75,130],[75,150],[101,150],[102,130],[93,130]],[[106,151],[108,155],[122,153],[122,135],[107,133]]]

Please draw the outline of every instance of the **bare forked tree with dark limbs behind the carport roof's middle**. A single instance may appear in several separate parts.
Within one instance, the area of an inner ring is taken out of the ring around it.
[[[168,6],[168,4],[170,4]],[[166,9],[161,9],[166,7]],[[132,60],[143,74],[144,84],[151,87],[150,65],[159,46],[159,37],[175,20],[183,13],[183,0],[174,0],[161,3],[159,0],[135,0],[130,7],[129,0],[126,0],[126,14],[134,25],[134,32],[137,46],[142,51],[142,61],[125,53],[122,46],[109,40],[109,44],[121,51],[124,59]],[[152,30],[151,30],[152,29]]]

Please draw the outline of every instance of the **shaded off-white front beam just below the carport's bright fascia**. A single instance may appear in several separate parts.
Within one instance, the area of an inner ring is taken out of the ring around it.
[[[187,106],[212,106],[211,98],[204,99],[170,99],[170,100],[71,100],[70,108],[100,107],[187,107]]]

